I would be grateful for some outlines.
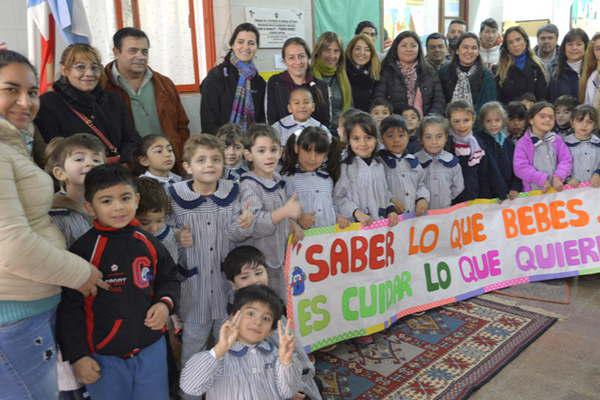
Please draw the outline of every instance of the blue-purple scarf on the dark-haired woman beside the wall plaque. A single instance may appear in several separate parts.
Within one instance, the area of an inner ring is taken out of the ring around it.
[[[235,96],[231,105],[229,122],[240,124],[243,130],[254,122],[254,101],[252,100],[251,82],[258,73],[252,61],[244,62],[235,56],[233,52],[229,61],[238,70],[240,77],[235,88]]]

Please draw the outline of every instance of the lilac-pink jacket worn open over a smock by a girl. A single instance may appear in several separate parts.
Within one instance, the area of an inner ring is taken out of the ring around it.
[[[533,166],[533,157],[535,154],[535,146],[532,141],[531,129],[527,129],[525,134],[515,145],[515,153],[513,156],[513,169],[515,175],[523,181],[523,191],[531,190],[531,185],[544,186],[548,178],[548,174],[538,171]],[[554,135],[554,148],[556,150],[556,170],[554,175],[565,181],[571,176],[573,168],[573,158],[565,142],[560,135]]]

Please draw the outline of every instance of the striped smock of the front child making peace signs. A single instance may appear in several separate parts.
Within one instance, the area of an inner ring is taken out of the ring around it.
[[[255,346],[240,342],[217,360],[213,350],[196,353],[181,371],[181,389],[206,400],[282,400],[301,387],[301,366],[294,356],[279,362],[275,346],[264,340]]]

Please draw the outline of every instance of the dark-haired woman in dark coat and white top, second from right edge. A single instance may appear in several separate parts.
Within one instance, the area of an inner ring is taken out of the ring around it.
[[[579,77],[589,41],[581,28],[571,29],[563,38],[558,49],[556,71],[548,85],[548,100],[552,103],[563,94],[579,98]]]

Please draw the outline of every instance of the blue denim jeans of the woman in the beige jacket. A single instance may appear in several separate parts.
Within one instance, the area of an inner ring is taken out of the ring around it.
[[[0,325],[0,400],[58,399],[55,313]]]

